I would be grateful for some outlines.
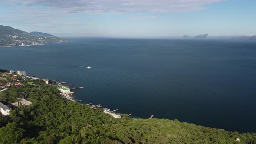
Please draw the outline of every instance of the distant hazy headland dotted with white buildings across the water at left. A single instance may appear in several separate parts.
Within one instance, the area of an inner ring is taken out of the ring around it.
[[[33,34],[14,29],[10,26],[0,25],[0,47],[3,46],[27,46],[42,43],[65,42],[68,39],[56,36],[45,36],[43,34]]]

